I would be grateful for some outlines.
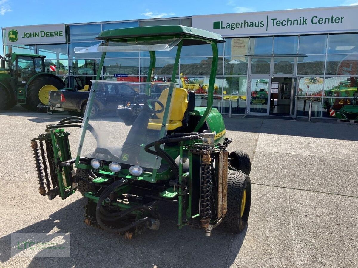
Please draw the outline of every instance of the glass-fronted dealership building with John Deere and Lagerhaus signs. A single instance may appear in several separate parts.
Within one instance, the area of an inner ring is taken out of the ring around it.
[[[68,86],[95,79],[100,53],[74,53],[100,43],[102,30],[184,25],[221,34],[214,107],[222,114],[329,117],[334,105],[350,104],[358,77],[358,6],[293,9],[180,18],[103,21],[2,28],[4,54],[45,55],[45,65]],[[175,48],[156,53],[155,81],[170,81]],[[205,106],[212,61],[210,45],[182,49],[176,83],[194,84],[196,105]],[[145,81],[149,53],[107,53],[102,79],[115,74]],[[338,92],[338,93],[337,93]]]

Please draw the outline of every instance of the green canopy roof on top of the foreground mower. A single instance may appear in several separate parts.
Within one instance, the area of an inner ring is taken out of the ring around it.
[[[183,37],[183,45],[199,45],[205,44],[209,41],[216,43],[225,42],[219,34],[215,34],[209,31],[200,30],[182,25],[164,25],[164,26],[145,26],[145,27],[134,27],[134,28],[123,28],[115,30],[101,31],[96,37],[98,40],[110,40],[110,41],[122,41],[123,39],[130,38],[172,38]]]

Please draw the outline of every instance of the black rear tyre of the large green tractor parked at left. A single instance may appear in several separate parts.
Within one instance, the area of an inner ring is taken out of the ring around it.
[[[39,78],[36,78],[28,87],[27,96],[26,96],[26,104],[23,105],[24,108],[32,110],[32,111],[38,111],[39,107],[38,105],[41,102],[39,98],[39,92],[40,89],[50,89],[53,90],[56,88],[63,89],[64,84],[61,83],[60,80],[52,77],[52,76],[40,76]],[[48,92],[48,90],[47,90]]]

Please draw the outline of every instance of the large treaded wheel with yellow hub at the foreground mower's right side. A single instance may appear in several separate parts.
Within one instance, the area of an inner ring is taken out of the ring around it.
[[[251,180],[243,172],[227,171],[227,212],[221,227],[229,232],[241,232],[251,207]]]

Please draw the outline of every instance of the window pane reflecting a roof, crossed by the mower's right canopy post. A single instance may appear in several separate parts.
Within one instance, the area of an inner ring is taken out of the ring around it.
[[[218,59],[217,75],[223,73],[223,58]],[[180,58],[180,72],[184,75],[210,75],[212,58]]]

